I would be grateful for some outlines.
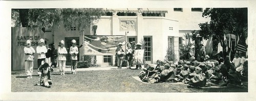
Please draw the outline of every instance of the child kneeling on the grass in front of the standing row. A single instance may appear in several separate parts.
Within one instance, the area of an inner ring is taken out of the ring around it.
[[[51,63],[48,64],[45,61],[42,61],[41,65],[38,68],[38,71],[41,72],[41,78],[40,78],[39,85],[51,88],[50,85],[52,85],[52,80],[51,80],[50,72],[54,71],[51,66]]]

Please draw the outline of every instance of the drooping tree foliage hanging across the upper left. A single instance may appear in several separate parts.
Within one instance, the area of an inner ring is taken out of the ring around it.
[[[66,28],[75,26],[78,31],[95,24],[102,15],[102,9],[12,9],[12,24],[16,27]]]

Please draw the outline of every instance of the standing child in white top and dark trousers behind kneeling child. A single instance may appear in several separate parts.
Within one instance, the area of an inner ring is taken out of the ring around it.
[[[39,40],[39,46],[36,47],[36,53],[37,53],[37,69],[39,68],[39,66],[41,65],[42,60],[46,59],[46,53],[47,53],[47,49],[45,44],[45,40],[44,39],[40,39]],[[38,76],[41,76],[41,72],[37,72]]]

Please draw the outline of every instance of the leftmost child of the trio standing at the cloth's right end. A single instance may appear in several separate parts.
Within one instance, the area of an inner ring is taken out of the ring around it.
[[[122,49],[122,44],[119,43],[118,47],[116,48],[117,69],[121,69],[122,68],[123,54],[124,54],[124,51]]]

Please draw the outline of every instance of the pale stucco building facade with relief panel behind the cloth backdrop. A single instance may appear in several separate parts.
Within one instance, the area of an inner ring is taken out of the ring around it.
[[[69,51],[71,40],[75,39],[77,45],[81,45],[84,41],[84,35],[125,36],[126,33],[127,42],[135,41],[139,43],[143,40],[146,49],[146,62],[156,63],[158,59],[164,59],[168,47],[174,49],[178,61],[179,44],[186,44],[184,34],[200,29],[198,26],[199,23],[209,21],[209,18],[202,17],[203,8],[104,10],[106,11],[106,15],[101,16],[95,25],[86,28],[84,32],[78,32],[76,27],[70,27],[66,31],[63,26],[60,26],[55,30],[46,28],[44,32],[40,32],[40,36],[42,36],[41,38],[47,39],[48,44],[55,44],[56,49],[61,40],[65,41],[65,47]],[[96,33],[93,28],[95,26],[97,26]],[[206,43],[207,41],[204,43],[205,46]],[[79,58],[85,52],[83,48],[84,45],[79,48]],[[95,59],[97,60],[96,64],[101,66],[115,64],[114,55],[96,55]],[[67,56],[67,65],[69,63],[70,60],[68,60]],[[36,62],[34,62],[35,66]],[[12,70],[18,69],[20,68]]]

